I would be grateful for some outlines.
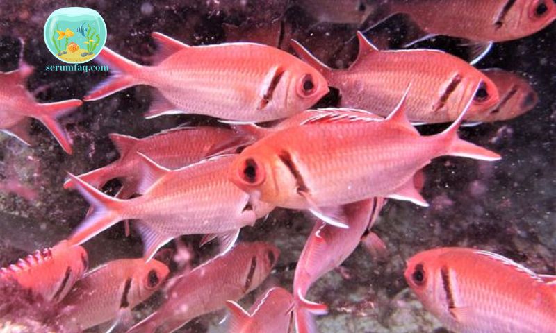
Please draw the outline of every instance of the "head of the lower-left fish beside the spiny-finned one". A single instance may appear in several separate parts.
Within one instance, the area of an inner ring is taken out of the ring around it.
[[[169,273],[168,267],[156,259],[146,263],[138,259],[138,262],[133,265],[131,274],[130,303],[138,304],[149,298],[162,286]]]

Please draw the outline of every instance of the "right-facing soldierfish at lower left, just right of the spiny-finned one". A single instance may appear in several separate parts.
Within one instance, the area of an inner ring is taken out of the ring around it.
[[[56,323],[81,332],[115,319],[130,325],[131,309],[157,291],[169,273],[157,260],[118,259],[88,272],[59,305]],[[128,326],[129,327],[129,326]]]

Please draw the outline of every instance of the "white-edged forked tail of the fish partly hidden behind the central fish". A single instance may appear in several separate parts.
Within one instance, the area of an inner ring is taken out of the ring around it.
[[[68,239],[72,245],[82,244],[122,220],[119,210],[125,200],[107,196],[72,173],[68,173],[68,175],[79,193],[93,207],[92,214],[85,218],[85,221],[72,232]]]

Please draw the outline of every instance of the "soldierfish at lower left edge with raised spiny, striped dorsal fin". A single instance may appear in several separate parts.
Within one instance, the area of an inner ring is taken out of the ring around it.
[[[17,263],[0,268],[0,280],[13,280],[49,302],[59,302],[88,268],[87,251],[60,241]]]

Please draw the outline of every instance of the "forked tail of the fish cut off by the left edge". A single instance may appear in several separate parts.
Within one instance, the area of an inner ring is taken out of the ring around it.
[[[35,116],[36,119],[48,128],[50,133],[54,135],[60,146],[62,146],[64,151],[68,154],[72,153],[72,142],[56,119],[72,111],[74,108],[79,107],[81,104],[83,104],[83,102],[79,99],[69,99],[67,101],[54,103],[41,103],[39,104],[39,112]]]

